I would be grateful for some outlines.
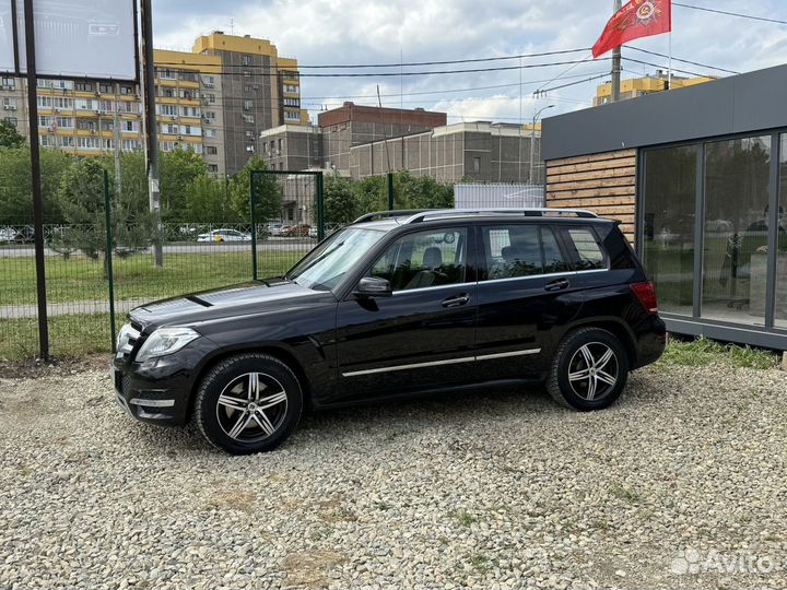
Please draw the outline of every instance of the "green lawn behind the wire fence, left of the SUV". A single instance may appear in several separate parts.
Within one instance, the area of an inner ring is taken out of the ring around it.
[[[281,274],[305,252],[259,252],[259,276]],[[151,253],[115,258],[117,299],[152,299],[247,281],[251,252],[216,251],[165,253],[157,268]],[[0,258],[0,306],[36,303],[33,258]],[[108,281],[103,260],[47,258],[47,298],[50,303],[106,300]]]

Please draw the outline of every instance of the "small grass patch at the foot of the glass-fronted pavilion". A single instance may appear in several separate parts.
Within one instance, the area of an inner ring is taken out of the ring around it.
[[[777,365],[778,357],[770,351],[721,344],[701,337],[691,342],[670,340],[660,363],[689,367],[720,363],[733,367],[770,369]]]

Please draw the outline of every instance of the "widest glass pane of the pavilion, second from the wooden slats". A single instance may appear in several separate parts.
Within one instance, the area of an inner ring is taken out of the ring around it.
[[[704,318],[763,326],[771,138],[705,144]]]

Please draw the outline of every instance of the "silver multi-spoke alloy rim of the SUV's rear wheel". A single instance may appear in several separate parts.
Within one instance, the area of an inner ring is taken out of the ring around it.
[[[607,396],[618,382],[620,368],[614,351],[601,342],[580,346],[568,363],[568,382],[582,399],[594,401]]]

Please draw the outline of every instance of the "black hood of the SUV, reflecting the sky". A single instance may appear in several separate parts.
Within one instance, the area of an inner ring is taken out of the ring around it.
[[[284,311],[332,298],[326,291],[313,291],[281,279],[242,283],[161,299],[132,309],[129,317],[143,329],[186,326],[227,316]]]

